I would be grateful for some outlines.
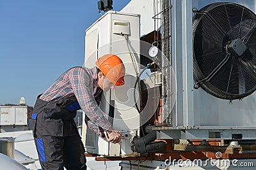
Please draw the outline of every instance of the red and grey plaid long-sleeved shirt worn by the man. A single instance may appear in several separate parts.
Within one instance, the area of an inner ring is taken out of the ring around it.
[[[103,132],[111,130],[112,127],[107,118],[104,117],[105,113],[98,106],[102,89],[98,88],[95,94],[93,94],[93,89],[96,88],[95,85],[97,83],[97,67],[92,69],[84,67],[84,69],[73,67],[61,74],[51,87],[40,96],[40,99],[53,101],[76,96],[81,109],[86,115],[86,125],[99,134],[101,138],[104,138]]]

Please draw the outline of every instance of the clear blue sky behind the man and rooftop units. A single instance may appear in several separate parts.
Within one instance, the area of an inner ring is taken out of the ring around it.
[[[33,106],[61,73],[83,66],[98,0],[0,0],[0,104]],[[120,11],[131,0],[113,0]],[[104,14],[104,11],[101,12]]]

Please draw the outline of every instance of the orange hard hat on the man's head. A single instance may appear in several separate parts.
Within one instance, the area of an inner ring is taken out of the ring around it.
[[[96,62],[100,71],[116,86],[124,85],[125,67],[122,60],[115,54],[106,54]]]

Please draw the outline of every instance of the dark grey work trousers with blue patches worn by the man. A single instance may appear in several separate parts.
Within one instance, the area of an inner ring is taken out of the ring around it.
[[[63,110],[60,103],[67,102],[36,100],[32,119],[40,164],[42,169],[86,169],[84,146],[73,119],[76,112]]]

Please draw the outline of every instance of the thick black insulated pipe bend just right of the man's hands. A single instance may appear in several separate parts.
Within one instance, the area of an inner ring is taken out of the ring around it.
[[[141,137],[134,138],[135,150],[138,153],[148,153],[163,150],[166,144],[163,141],[154,142],[156,140],[156,131]]]

